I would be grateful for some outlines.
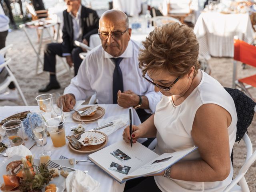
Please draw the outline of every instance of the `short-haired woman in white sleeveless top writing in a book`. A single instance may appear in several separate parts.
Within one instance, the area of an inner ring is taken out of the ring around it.
[[[223,191],[233,176],[230,155],[237,115],[232,97],[199,70],[199,46],[192,28],[166,24],[150,32],[142,45],[143,77],[162,93],[162,99],[155,114],[133,126],[133,142],[156,137],[159,155],[194,145],[198,150],[159,174],[126,182],[124,191]],[[130,142],[129,127],[123,138]]]

